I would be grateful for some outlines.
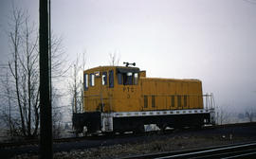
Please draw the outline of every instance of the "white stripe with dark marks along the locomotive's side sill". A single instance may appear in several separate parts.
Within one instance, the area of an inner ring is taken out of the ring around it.
[[[117,112],[104,115],[113,117],[128,117],[128,116],[153,116],[153,115],[192,115],[192,114],[210,114],[214,110],[209,109],[190,109],[190,110],[166,110],[166,111],[143,111],[143,112]]]

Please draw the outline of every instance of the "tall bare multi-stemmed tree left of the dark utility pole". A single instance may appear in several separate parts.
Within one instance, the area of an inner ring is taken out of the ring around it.
[[[15,85],[21,131],[24,136],[31,137],[37,134],[39,126],[38,37],[36,34],[33,37],[35,27],[28,26],[28,16],[21,9],[13,9],[12,17],[9,70]]]

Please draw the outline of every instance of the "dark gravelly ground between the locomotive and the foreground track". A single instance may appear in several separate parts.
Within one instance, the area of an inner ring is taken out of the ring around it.
[[[108,137],[54,144],[54,158],[120,158],[174,150],[191,150],[256,141],[256,123],[218,126],[202,130],[177,130],[165,134]],[[10,152],[7,150],[6,152]],[[37,151],[12,156],[38,158]]]

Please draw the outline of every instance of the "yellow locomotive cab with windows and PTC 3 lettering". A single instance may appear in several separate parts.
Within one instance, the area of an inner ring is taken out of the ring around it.
[[[84,112],[133,111],[138,104],[139,69],[102,66],[83,72]],[[129,102],[131,101],[131,102]]]

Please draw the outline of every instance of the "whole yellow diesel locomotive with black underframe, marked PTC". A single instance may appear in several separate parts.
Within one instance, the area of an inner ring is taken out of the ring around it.
[[[213,123],[198,79],[147,78],[137,67],[99,66],[83,71],[83,113],[76,132],[143,132],[144,125],[201,127]]]

